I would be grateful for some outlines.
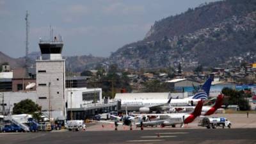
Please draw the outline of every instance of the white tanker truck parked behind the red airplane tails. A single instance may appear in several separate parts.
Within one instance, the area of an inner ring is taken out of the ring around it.
[[[223,118],[223,117],[212,117],[212,118],[208,118],[208,117],[204,117],[199,121],[198,126],[201,127],[207,127],[207,129],[210,129],[212,127],[212,129],[216,129],[217,127],[222,127],[224,129],[224,127],[231,127],[231,122],[228,121],[227,118]]]

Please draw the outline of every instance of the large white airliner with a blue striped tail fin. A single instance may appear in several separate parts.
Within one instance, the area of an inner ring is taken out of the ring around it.
[[[184,99],[173,99],[171,102],[170,100],[166,99],[122,100],[121,110],[127,108],[128,111],[140,111],[140,113],[149,113],[151,111],[159,111],[159,109],[163,109],[161,107],[166,104],[170,104],[170,106],[194,106],[199,100],[208,99],[211,83],[212,77],[205,81],[202,88],[195,95]]]

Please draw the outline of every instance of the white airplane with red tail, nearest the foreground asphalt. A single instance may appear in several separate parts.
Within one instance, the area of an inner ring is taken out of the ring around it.
[[[197,116],[201,115],[203,107],[203,101],[198,101],[198,104],[196,105],[194,111],[190,114],[188,113],[172,113],[172,114],[146,114],[146,115],[140,115],[141,120],[140,124],[136,124],[137,126],[141,127],[141,130],[143,129],[143,126],[147,125],[161,125],[161,127],[164,127],[166,125],[172,125],[172,127],[175,127],[176,124],[189,124],[195,120]],[[155,120],[149,119],[149,122],[147,122],[147,119],[143,119],[143,116],[149,117],[149,116],[157,116]]]

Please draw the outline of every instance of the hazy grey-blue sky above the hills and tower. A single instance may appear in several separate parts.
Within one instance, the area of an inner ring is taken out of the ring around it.
[[[130,42],[142,40],[155,22],[216,0],[0,0],[0,51],[25,55],[26,10],[29,52],[49,39],[49,26],[61,35],[63,55],[109,56]]]

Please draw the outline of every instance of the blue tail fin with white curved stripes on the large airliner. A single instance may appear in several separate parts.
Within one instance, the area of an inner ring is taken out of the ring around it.
[[[198,91],[198,93],[196,93],[192,99],[203,99],[203,100],[207,100],[209,97],[209,92],[210,92],[210,88],[211,88],[211,84],[212,84],[212,77],[209,77],[209,79],[207,79],[207,81],[205,81],[204,85],[202,86],[202,88],[200,88],[200,90]]]

